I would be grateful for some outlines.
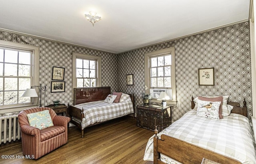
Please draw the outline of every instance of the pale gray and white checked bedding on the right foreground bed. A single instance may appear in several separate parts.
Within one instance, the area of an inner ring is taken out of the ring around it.
[[[243,164],[256,164],[254,138],[248,118],[230,114],[213,120],[196,116],[191,110],[158,134],[166,134],[234,158]],[[152,136],[146,145],[144,160],[153,161]]]

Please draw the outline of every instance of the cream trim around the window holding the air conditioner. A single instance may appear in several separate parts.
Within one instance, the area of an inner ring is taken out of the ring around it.
[[[172,100],[166,100],[167,104],[176,105],[176,71],[175,71],[175,48],[165,48],[163,50],[158,50],[154,52],[149,52],[145,54],[145,92],[150,93],[150,57],[159,56],[164,54],[172,55],[172,70],[171,70],[171,83],[172,83]],[[150,102],[161,103],[161,100],[155,98],[151,99]]]

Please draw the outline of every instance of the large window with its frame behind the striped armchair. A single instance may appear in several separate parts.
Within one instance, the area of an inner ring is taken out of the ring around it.
[[[38,98],[22,97],[22,94],[30,86],[38,85],[38,63],[38,47],[0,41],[1,108],[14,108],[37,102]]]

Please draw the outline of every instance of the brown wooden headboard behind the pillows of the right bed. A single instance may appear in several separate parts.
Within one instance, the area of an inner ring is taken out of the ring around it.
[[[241,114],[241,115],[247,117],[247,107],[246,107],[245,99],[243,102],[243,104],[244,104],[243,107],[240,107],[240,103],[238,103],[238,102],[228,101],[228,104],[234,106],[234,108],[231,110],[231,113],[237,113],[237,114]],[[195,107],[195,102],[194,102],[194,98],[192,96],[191,109],[194,109],[194,107]]]

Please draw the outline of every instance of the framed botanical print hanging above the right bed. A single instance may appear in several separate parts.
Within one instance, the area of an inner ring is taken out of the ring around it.
[[[214,68],[198,69],[199,86],[214,86]]]

